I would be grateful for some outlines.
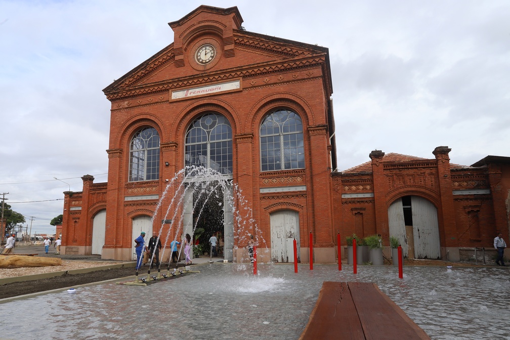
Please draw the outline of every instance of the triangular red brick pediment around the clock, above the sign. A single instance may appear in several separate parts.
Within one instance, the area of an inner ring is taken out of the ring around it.
[[[110,95],[217,73],[244,71],[253,74],[264,67],[282,69],[303,59],[327,58],[327,48],[247,32],[241,22],[237,8],[200,6],[183,19],[169,23],[175,33],[173,43],[126,73],[104,92]],[[204,45],[212,46],[217,59],[202,66],[197,54]]]

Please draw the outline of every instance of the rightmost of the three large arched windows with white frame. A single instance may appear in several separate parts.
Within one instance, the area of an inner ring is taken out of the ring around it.
[[[288,110],[277,110],[264,118],[260,127],[262,171],[303,169],[303,123]]]

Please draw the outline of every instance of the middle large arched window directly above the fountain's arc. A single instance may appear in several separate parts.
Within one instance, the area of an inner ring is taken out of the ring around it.
[[[232,127],[221,115],[207,113],[186,132],[185,164],[232,174]]]

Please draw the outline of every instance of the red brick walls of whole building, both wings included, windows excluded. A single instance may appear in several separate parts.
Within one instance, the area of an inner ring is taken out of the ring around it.
[[[104,90],[111,101],[108,182],[94,183],[85,175],[82,192],[65,194],[62,253],[90,254],[94,217],[106,211],[102,256],[131,259],[134,219],[155,215],[166,180],[185,166],[188,126],[205,112],[224,116],[232,126],[232,179],[252,209],[263,247],[271,245],[271,214],[281,211],[298,216],[303,262],[309,260],[310,233],[315,261],[322,263],[337,260],[338,232],[342,244],[353,232],[380,233],[387,246],[388,207],[403,196],[423,197],[437,208],[441,254],[449,252],[450,259],[462,247],[489,247],[496,228],[508,240],[505,158],[461,167],[450,164],[447,147],[436,148],[435,159],[374,150],[371,162],[332,173],[337,166],[328,49],[246,32],[242,22],[236,7],[200,6],[169,23],[173,43]],[[205,44],[216,55],[200,64],[195,56]],[[214,92],[226,83],[236,86]],[[293,111],[302,120],[304,168],[261,171],[261,122],[276,109]],[[130,143],[146,126],[160,136],[159,178],[130,181]],[[489,193],[455,195],[461,188]],[[162,203],[168,204],[168,199]],[[164,217],[158,210],[154,221]],[[159,230],[161,224],[153,227]],[[173,239],[175,228],[163,225],[162,238],[168,233]],[[245,241],[234,242],[245,247]]]

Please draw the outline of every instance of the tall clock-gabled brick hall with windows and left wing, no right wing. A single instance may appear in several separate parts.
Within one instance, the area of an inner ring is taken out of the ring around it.
[[[335,260],[328,49],[246,32],[242,22],[237,7],[200,6],[169,23],[173,43],[104,90],[108,183],[86,175],[83,192],[66,196],[63,252],[132,258],[140,230],[161,227],[165,209],[150,218],[167,180],[201,165],[237,184],[257,221],[246,227],[221,212],[226,258],[238,259],[236,248],[256,234],[259,256],[292,260],[293,238],[308,247],[312,232],[316,259]],[[183,216],[190,232],[196,221]],[[162,239],[179,225],[164,224]]]

